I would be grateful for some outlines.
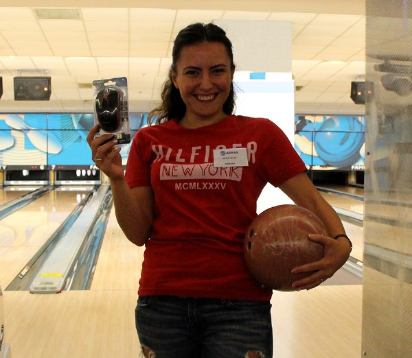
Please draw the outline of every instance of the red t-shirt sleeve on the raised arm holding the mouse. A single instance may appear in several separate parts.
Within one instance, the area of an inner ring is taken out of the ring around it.
[[[144,129],[139,130],[130,145],[126,164],[126,182],[130,188],[150,187],[150,143],[144,136]]]

